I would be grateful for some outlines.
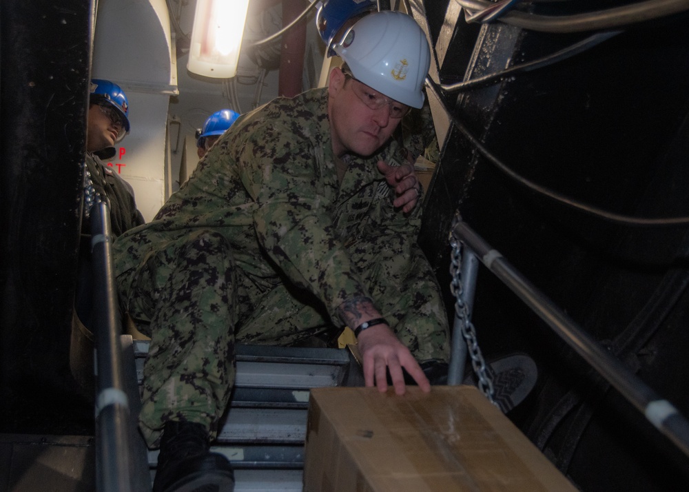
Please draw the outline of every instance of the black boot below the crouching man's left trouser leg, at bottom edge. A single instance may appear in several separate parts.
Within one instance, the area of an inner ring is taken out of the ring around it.
[[[232,492],[225,456],[210,452],[208,432],[193,422],[165,422],[153,492]]]

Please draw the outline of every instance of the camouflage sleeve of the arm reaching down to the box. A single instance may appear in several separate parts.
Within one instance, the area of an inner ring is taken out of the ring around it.
[[[243,181],[258,205],[254,225],[260,245],[342,325],[338,307],[368,293],[333,227],[338,183],[330,143],[311,141],[308,125],[297,120],[287,127],[276,119],[257,130],[240,158]]]

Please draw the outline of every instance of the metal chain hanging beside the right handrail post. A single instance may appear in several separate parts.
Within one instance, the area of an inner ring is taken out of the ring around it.
[[[459,218],[455,216],[452,222],[451,230],[455,229],[455,225]],[[489,368],[486,366],[486,361],[483,358],[481,349],[478,346],[478,339],[476,337],[476,330],[469,317],[469,306],[464,303],[462,288],[462,243],[455,239],[450,233],[450,245],[452,247],[452,258],[450,264],[450,274],[452,281],[450,283],[450,291],[455,296],[455,316],[460,320],[462,329],[462,338],[466,342],[466,347],[469,349],[469,356],[471,356],[471,367],[478,378],[477,387],[480,391],[497,407],[493,391],[493,376]]]

